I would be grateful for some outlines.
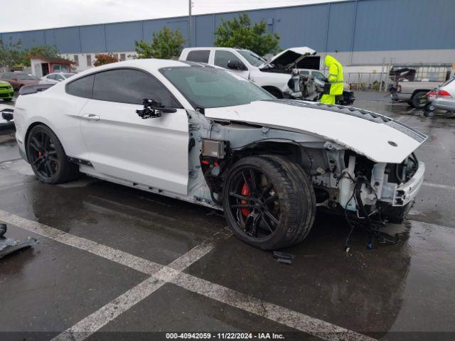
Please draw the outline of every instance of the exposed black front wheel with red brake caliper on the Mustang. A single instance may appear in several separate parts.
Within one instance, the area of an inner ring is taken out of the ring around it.
[[[316,198],[308,175],[296,163],[281,156],[247,156],[225,177],[223,210],[240,240],[259,249],[280,249],[309,234]]]

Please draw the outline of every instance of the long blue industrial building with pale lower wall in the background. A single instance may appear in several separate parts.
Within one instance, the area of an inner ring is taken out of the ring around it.
[[[63,56],[75,61],[77,70],[85,70],[92,65],[95,53],[114,53],[119,60],[133,58],[134,40],[150,41],[152,33],[164,26],[180,29],[193,46],[213,45],[215,27],[222,19],[231,19],[239,13],[193,16],[190,35],[188,17],[182,16],[0,33],[0,36],[5,42],[20,39],[25,48],[56,45]],[[282,48],[306,45],[320,55],[335,55],[358,72],[381,72],[372,68],[390,65],[449,68],[455,63],[453,0],[350,0],[247,13],[252,21],[266,21],[268,31],[279,34]]]

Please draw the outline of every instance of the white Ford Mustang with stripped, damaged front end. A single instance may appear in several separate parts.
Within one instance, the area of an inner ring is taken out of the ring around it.
[[[199,63],[129,60],[45,91],[24,87],[16,139],[45,183],[79,173],[223,209],[262,249],[303,240],[316,207],[348,222],[401,221],[427,136],[363,109],[275,99]]]

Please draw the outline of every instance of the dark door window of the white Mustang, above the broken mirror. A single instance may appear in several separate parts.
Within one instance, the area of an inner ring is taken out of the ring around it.
[[[142,104],[145,98],[161,102],[165,107],[180,107],[171,92],[146,72],[117,69],[95,75],[93,99]]]

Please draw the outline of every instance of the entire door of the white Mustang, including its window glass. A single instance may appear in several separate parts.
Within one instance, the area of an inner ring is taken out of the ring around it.
[[[141,119],[143,99],[176,112]],[[186,111],[155,77],[137,69],[95,74],[93,96],[81,113],[82,136],[96,171],[130,183],[186,195],[188,119]]]

